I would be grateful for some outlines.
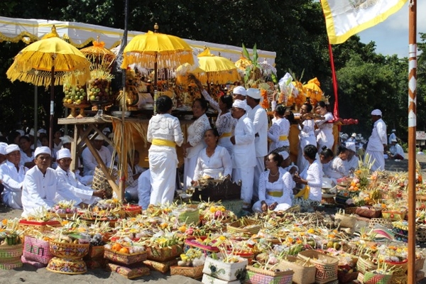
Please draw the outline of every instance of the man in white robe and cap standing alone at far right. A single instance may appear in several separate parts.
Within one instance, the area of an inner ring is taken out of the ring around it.
[[[386,135],[386,124],[383,121],[382,112],[380,109],[371,111],[371,120],[373,120],[373,131],[368,138],[368,145],[366,148],[366,155],[364,163],[373,163],[371,170],[384,170],[385,169],[385,156],[384,151],[388,146],[388,139]],[[368,160],[367,160],[368,154]]]

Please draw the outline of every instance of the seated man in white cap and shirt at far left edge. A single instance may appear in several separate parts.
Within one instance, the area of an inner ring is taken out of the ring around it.
[[[22,209],[22,185],[23,178],[28,168],[20,165],[21,151],[19,146],[11,144],[6,147],[6,163],[0,165],[1,180],[4,191],[1,193],[4,204],[13,209]]]

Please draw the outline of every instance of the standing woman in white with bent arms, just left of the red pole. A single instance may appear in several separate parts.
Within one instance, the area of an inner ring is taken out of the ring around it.
[[[333,136],[333,119],[334,116],[327,109],[327,104],[323,101],[317,102],[315,106],[317,115],[315,116],[315,124],[318,129],[315,131],[317,136],[317,149],[320,151],[322,146],[332,149],[334,144]]]

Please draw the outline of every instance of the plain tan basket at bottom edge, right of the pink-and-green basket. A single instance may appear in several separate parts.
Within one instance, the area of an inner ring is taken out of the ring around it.
[[[311,284],[315,282],[317,268],[310,260],[302,260],[302,258],[296,256],[286,256],[278,264],[277,268],[280,270],[290,268],[294,271],[293,282],[296,284]]]

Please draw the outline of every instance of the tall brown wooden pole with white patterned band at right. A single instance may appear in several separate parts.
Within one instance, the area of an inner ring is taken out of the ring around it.
[[[417,103],[416,1],[408,4],[408,283],[415,280],[415,131]],[[421,175],[422,173],[418,173]]]

